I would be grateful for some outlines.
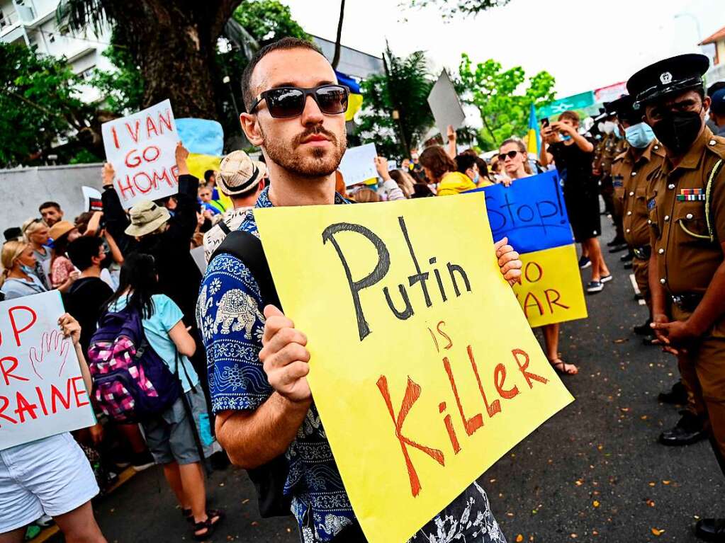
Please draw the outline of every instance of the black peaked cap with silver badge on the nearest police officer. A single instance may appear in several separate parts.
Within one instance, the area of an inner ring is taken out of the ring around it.
[[[642,68],[627,81],[627,90],[638,104],[646,104],[684,90],[703,88],[703,75],[710,59],[701,54],[684,54],[660,60]]]

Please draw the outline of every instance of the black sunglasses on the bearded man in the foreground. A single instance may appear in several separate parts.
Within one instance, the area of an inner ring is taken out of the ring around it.
[[[267,109],[275,119],[297,117],[305,111],[307,96],[312,96],[315,103],[325,114],[339,115],[347,111],[347,98],[349,90],[342,85],[319,85],[312,88],[278,87],[265,90],[254,104],[249,113],[254,113],[262,100],[267,101]]]

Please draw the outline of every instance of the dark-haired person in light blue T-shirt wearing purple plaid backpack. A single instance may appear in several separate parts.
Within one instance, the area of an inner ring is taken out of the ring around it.
[[[213,452],[207,404],[188,360],[196,345],[183,313],[157,292],[154,257],[129,255],[88,348],[93,396],[115,421],[141,424],[194,539],[202,541],[223,519],[222,511],[206,508],[202,463]]]

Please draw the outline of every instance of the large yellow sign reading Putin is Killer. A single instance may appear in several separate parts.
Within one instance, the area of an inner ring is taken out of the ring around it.
[[[371,543],[405,542],[573,400],[500,274],[484,205],[254,211]]]

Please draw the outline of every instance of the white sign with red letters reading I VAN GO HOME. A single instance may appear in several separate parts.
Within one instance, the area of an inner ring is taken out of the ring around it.
[[[116,172],[113,186],[124,208],[178,193],[179,136],[170,101],[104,122],[101,132],[106,159]]]

